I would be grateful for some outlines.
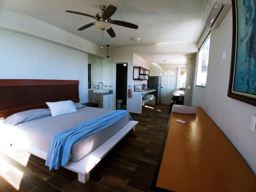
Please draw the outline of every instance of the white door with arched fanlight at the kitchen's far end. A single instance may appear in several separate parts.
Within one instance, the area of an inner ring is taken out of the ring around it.
[[[177,87],[177,69],[165,69],[162,76],[160,102],[170,104]]]

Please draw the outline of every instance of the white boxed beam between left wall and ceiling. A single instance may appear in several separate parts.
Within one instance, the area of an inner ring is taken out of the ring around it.
[[[105,48],[36,18],[0,8],[0,29],[44,39],[90,54],[105,56]]]

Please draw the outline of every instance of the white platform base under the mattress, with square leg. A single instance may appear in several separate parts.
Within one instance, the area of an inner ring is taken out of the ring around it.
[[[98,146],[94,151],[89,153],[83,159],[77,162],[69,162],[68,166],[64,166],[65,168],[72,170],[73,172],[78,174],[78,181],[82,183],[86,183],[90,179],[90,171],[93,167],[106,155],[108,154],[112,148],[131,130],[135,130],[135,126],[138,124],[138,121],[129,121],[121,130],[119,130],[115,135],[110,137],[108,140],[103,142],[100,146]],[[15,143],[13,143],[15,145]],[[41,150],[38,150],[32,146],[18,146],[23,150],[40,157],[42,159],[47,158],[47,153]]]

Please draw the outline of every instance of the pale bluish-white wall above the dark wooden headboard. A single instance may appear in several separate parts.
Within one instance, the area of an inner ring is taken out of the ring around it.
[[[1,79],[79,80],[79,98],[88,101],[87,53],[38,38],[0,30]]]

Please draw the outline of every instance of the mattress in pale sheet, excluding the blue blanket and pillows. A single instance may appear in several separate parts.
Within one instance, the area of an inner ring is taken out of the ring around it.
[[[8,141],[15,145],[24,146],[23,148],[27,148],[27,145],[33,146],[33,148],[47,153],[51,138],[57,133],[111,111],[87,106],[75,113],[56,117],[48,116],[15,126],[2,124],[1,134],[4,133]],[[71,148],[71,161],[81,160],[105,140],[118,132],[128,122],[129,114],[126,114],[122,119],[107,129],[76,142]]]

